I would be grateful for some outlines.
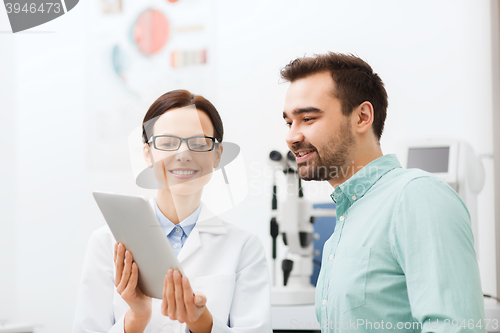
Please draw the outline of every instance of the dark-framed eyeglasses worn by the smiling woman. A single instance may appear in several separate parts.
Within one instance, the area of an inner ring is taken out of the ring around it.
[[[194,152],[211,151],[214,149],[215,138],[210,136],[192,136],[190,138],[179,138],[173,135],[156,135],[149,139],[155,149],[163,151],[176,151],[186,142],[188,149]]]

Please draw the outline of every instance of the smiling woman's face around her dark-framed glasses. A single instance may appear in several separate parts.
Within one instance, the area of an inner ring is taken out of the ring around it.
[[[214,136],[208,115],[193,107],[170,109],[161,115],[153,127],[154,135],[174,135],[180,138]],[[154,168],[160,188],[177,195],[198,193],[210,181],[214,167],[220,161],[222,147],[215,145],[209,152],[193,152],[182,142],[177,151],[155,149],[144,145],[144,158]]]

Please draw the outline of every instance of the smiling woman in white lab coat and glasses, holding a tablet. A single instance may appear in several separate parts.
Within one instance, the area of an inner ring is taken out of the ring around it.
[[[154,208],[186,276],[169,270],[163,300],[145,296],[132,253],[104,226],[89,241],[73,332],[271,332],[262,244],[200,201],[222,137],[201,96],[176,90],[151,105],[143,154],[159,183]]]

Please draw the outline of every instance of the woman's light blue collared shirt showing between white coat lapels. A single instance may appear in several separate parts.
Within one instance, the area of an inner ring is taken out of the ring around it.
[[[165,215],[163,215],[160,208],[158,208],[156,199],[154,200],[154,202],[156,217],[160,221],[163,231],[170,241],[170,244],[172,244],[172,249],[174,250],[175,255],[178,256],[179,252],[184,246],[184,243],[186,242],[186,239],[189,237],[191,231],[196,225],[196,221],[198,221],[198,217],[200,216],[201,211],[201,204],[198,206],[198,208],[196,208],[193,214],[186,217],[179,224],[174,224],[172,223],[172,221],[166,218]]]

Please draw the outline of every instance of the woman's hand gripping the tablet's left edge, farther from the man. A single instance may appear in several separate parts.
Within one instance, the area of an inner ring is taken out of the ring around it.
[[[145,328],[149,323],[152,313],[151,297],[144,295],[137,285],[139,269],[132,252],[127,251],[123,244],[116,243],[113,260],[116,268],[116,291],[130,307],[130,310],[125,315],[125,325],[131,329],[126,331],[141,331],[141,329],[136,330],[135,328],[142,326]],[[142,328],[142,331],[144,331],[144,328]]]

